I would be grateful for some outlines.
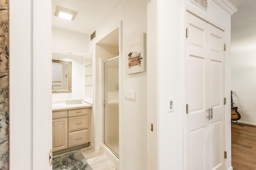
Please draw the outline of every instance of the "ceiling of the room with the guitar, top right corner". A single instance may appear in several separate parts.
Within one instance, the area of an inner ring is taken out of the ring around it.
[[[256,0],[229,0],[238,11],[231,16],[231,52],[256,48]]]

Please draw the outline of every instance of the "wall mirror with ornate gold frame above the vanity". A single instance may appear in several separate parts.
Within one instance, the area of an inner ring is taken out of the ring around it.
[[[71,93],[72,62],[52,60],[52,93]]]

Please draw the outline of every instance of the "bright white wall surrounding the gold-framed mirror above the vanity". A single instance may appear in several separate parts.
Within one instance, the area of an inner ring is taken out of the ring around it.
[[[52,53],[52,59],[72,62],[72,93],[52,93],[52,100],[84,99],[84,58]]]

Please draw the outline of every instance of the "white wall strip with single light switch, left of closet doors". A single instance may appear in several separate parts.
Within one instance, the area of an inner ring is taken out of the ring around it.
[[[183,3],[163,0],[158,4],[159,170],[183,167]],[[171,113],[167,113],[168,97],[175,100]]]

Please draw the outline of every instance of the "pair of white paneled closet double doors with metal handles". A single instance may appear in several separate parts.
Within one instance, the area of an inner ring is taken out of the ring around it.
[[[187,169],[224,169],[224,32],[188,12],[187,27]]]

